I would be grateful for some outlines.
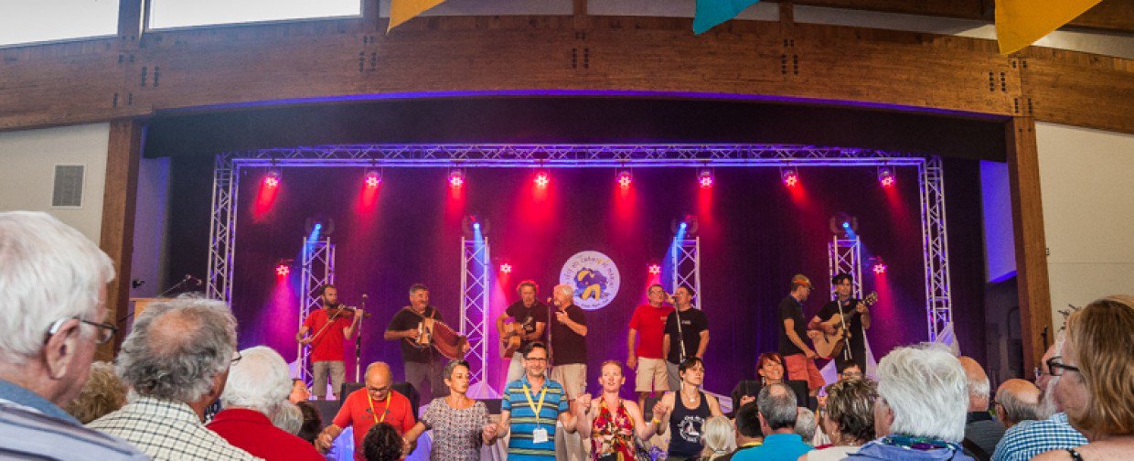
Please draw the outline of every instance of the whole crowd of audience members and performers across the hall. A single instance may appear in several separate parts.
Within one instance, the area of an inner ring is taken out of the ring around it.
[[[603,362],[592,395],[585,360],[572,361],[577,351],[569,351],[587,333],[569,290],[553,290],[551,311],[525,282],[501,319],[522,325],[522,344],[509,358],[498,417],[468,396],[467,362],[438,366],[432,352],[406,350],[422,359],[407,375],[431,391],[420,418],[393,388],[389,364],[374,362],[364,387],[338,395],[341,408],[323,421],[308,399],[322,396],[325,383],[312,393],[276,351],[238,350],[236,319],[220,301],[153,303],[113,363],[94,362],[98,345],[117,333],[107,309],[113,266],[48,215],[0,212],[0,261],[3,459],[321,460],[347,428],[355,460],[383,461],[413,453],[426,433],[429,458],[445,461],[477,460],[497,444],[514,460],[646,460],[660,458],[659,447],[669,460],[1090,461],[1134,453],[1131,296],[1072,313],[1034,382],[1009,379],[995,393],[980,363],[934,344],[897,347],[869,377],[850,344],[838,380],[816,384],[815,351],[803,337],[833,332],[833,316],[864,332],[869,309],[844,296],[847,280],[837,277],[840,296],[824,307],[831,316],[804,324],[798,308],[812,287],[796,276],[780,307],[780,351],[759,357],[756,379],[738,386],[726,414],[702,388],[708,322],[689,308],[692,290],[678,288],[668,307],[665,291],[650,287],[629,325],[628,360]],[[415,338],[411,320],[435,317],[423,286],[411,288],[411,303],[388,329],[391,340]],[[330,326],[341,343],[362,313],[337,316],[305,324],[296,341],[319,341]],[[559,354],[568,361],[556,362]],[[339,366],[318,370],[342,380]],[[634,388],[624,389],[629,371]],[[624,400],[624,391],[638,399]]]

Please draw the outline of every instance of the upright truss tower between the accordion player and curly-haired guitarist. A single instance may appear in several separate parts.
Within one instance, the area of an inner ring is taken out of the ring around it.
[[[489,240],[460,237],[460,334],[468,338],[468,383],[486,383],[489,347]]]

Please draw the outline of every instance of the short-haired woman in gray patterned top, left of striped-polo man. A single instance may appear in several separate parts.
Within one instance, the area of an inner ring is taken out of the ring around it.
[[[433,429],[433,444],[430,449],[431,460],[475,461],[481,459],[481,446],[493,441],[483,437],[484,427],[489,424],[489,410],[483,402],[472,400],[468,393],[468,362],[452,360],[441,372],[449,395],[433,399],[429,410],[422,414],[406,435],[406,451],[417,442],[417,437],[426,429]]]

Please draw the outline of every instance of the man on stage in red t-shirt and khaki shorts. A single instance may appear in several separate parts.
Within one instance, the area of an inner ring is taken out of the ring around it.
[[[666,378],[666,355],[661,342],[666,336],[666,318],[674,311],[663,304],[669,294],[660,284],[646,290],[646,303],[634,308],[631,330],[626,335],[626,366],[635,370],[634,391],[638,393],[638,408],[645,405],[651,392],[669,391]],[[637,344],[635,345],[635,340]]]

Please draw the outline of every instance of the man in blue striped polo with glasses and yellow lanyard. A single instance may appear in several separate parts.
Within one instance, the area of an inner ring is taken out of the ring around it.
[[[500,402],[500,422],[484,429],[484,438],[511,434],[508,459],[555,460],[556,421],[568,433],[575,431],[575,416],[562,385],[548,379],[548,347],[531,343],[522,350],[525,374],[505,386]]]

